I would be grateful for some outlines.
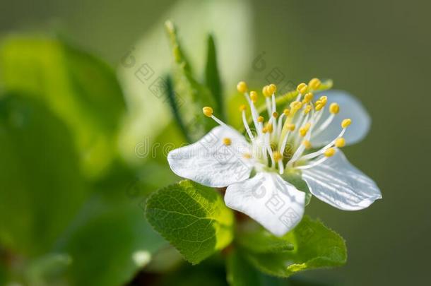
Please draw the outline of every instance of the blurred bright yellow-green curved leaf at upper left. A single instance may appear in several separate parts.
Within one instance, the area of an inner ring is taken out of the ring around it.
[[[100,176],[117,154],[124,112],[112,69],[55,38],[25,35],[1,42],[0,67],[4,90],[42,100],[70,129],[83,173]]]

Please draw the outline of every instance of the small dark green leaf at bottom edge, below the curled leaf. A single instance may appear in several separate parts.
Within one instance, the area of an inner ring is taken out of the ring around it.
[[[227,280],[230,286],[259,286],[260,273],[236,250],[226,261]]]

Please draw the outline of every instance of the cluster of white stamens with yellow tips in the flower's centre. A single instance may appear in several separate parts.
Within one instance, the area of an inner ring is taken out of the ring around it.
[[[314,91],[319,88],[321,81],[313,78],[306,83],[297,85],[297,97],[290,102],[289,108],[284,109],[281,114],[276,108],[276,85],[264,86],[262,93],[265,97],[268,119],[259,114],[256,109],[258,94],[256,91],[248,91],[247,84],[241,81],[237,84],[237,90],[244,94],[249,105],[252,117],[252,126],[247,121],[247,106],[241,105],[242,123],[250,141],[250,150],[242,153],[242,157],[253,160],[254,166],[278,170],[280,174],[285,169],[307,169],[324,162],[328,157],[336,153],[337,148],[346,145],[343,138],[346,129],[351,124],[350,119],[344,119],[341,123],[341,131],[333,138],[333,141],[319,150],[310,152],[313,147],[313,138],[331,124],[336,114],[340,111],[337,103],[333,102],[326,107],[328,97],[321,96],[313,102]],[[329,116],[322,121],[325,112]],[[228,128],[223,121],[213,115],[211,107],[203,107],[203,114],[211,117],[221,126]],[[254,131],[254,132],[253,132]],[[223,143],[234,148],[235,142],[232,138],[220,138]]]

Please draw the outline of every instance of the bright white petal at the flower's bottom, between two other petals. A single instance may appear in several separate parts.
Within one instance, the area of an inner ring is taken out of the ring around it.
[[[304,215],[305,193],[276,173],[258,172],[247,181],[228,186],[225,203],[282,236]]]

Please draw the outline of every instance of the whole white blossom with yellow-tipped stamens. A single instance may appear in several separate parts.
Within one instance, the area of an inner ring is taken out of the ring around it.
[[[211,107],[204,107],[203,113],[220,126],[198,142],[172,150],[167,156],[172,171],[205,186],[228,186],[226,205],[277,236],[292,230],[305,209],[306,193],[283,179],[286,174],[300,174],[312,195],[336,208],[367,208],[382,194],[340,148],[366,135],[370,117],[358,100],[342,91],[328,91],[313,102],[319,85],[317,78],[298,85],[296,100],[280,116],[276,86],[265,86],[265,123],[255,107],[257,93],[248,93],[247,85],[238,83],[256,132],[247,123],[245,105],[240,111],[248,140],[215,117]]]

